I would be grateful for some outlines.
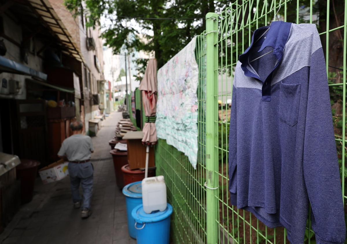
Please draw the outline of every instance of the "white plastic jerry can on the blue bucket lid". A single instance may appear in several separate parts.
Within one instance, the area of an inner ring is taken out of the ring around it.
[[[164,211],[167,207],[166,184],[164,176],[144,178],[141,183],[142,204],[145,213],[152,211]]]

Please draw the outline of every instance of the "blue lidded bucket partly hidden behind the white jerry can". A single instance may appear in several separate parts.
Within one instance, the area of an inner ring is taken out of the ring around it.
[[[136,239],[136,229],[134,226],[135,220],[131,213],[138,204],[142,204],[141,181],[133,182],[124,186],[123,194],[125,195],[127,205],[128,232],[130,237]]]

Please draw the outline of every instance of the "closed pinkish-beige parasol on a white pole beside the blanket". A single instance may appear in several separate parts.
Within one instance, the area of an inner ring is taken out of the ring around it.
[[[156,137],[155,130],[155,113],[156,113],[156,72],[157,72],[156,59],[150,59],[148,61],[144,77],[139,86],[139,90],[142,90],[143,108],[145,110],[145,124],[143,126],[143,138],[142,143],[147,145],[146,148],[146,170],[145,178],[147,178],[148,172],[148,154],[149,146],[156,144],[158,138]]]

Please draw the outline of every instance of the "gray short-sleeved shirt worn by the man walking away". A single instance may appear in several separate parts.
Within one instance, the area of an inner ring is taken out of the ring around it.
[[[76,134],[64,140],[58,155],[66,155],[69,161],[83,161],[90,159],[92,151],[94,151],[92,139],[89,136]]]

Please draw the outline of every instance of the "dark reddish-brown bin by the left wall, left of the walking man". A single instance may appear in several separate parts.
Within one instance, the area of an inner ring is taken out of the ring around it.
[[[33,199],[35,178],[40,162],[30,159],[21,159],[16,167],[17,179],[20,179],[20,201],[22,204]]]

